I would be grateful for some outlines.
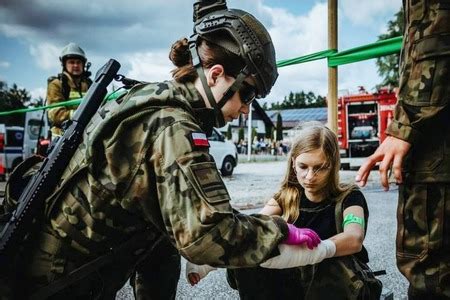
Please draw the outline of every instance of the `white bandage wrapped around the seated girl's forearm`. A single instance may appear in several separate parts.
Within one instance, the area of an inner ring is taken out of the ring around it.
[[[325,258],[333,257],[336,245],[331,240],[324,240],[314,249],[305,245],[278,245],[280,255],[272,257],[261,264],[268,269],[286,269],[306,265],[313,265]]]

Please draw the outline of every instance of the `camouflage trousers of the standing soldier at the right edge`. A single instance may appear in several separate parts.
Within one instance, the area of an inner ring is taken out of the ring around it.
[[[450,299],[450,184],[403,184],[397,266],[410,299]]]

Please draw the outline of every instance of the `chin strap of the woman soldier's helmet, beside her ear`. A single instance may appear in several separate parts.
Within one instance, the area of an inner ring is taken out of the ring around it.
[[[225,126],[225,119],[223,117],[222,113],[222,106],[218,106],[216,103],[216,99],[214,98],[214,95],[211,91],[211,88],[208,85],[208,82],[206,80],[205,72],[203,70],[202,63],[200,61],[200,57],[198,56],[197,52],[197,38],[198,35],[194,34],[189,39],[189,51],[191,52],[192,57],[192,65],[194,66],[195,70],[197,71],[198,77],[200,78],[200,81],[202,82],[203,89],[206,93],[206,98],[208,99],[209,104],[214,109],[214,115],[216,117],[216,127],[223,127]],[[223,97],[222,97],[223,98]],[[222,101],[222,99],[221,99]],[[219,102],[221,102],[219,101]]]

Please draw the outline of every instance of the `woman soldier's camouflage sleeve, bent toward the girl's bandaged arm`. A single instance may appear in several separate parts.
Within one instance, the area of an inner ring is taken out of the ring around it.
[[[233,212],[230,196],[207,147],[196,147],[197,125],[176,122],[153,145],[159,205],[180,253],[196,264],[256,266],[287,235],[279,217]],[[276,251],[276,250],[275,250]]]

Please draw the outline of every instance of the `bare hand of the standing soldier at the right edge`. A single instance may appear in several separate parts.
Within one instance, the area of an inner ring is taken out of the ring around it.
[[[377,148],[375,153],[369,156],[364,164],[359,168],[355,181],[358,182],[359,186],[365,186],[370,170],[372,170],[377,162],[381,161],[379,165],[379,172],[381,185],[384,187],[384,190],[389,190],[388,172],[391,167],[395,181],[397,184],[401,184],[403,182],[403,160],[410,148],[410,143],[393,136],[388,136]]]

